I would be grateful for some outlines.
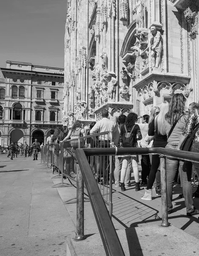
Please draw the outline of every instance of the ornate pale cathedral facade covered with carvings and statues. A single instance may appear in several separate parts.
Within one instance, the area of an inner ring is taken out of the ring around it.
[[[64,118],[91,122],[183,93],[199,100],[198,0],[68,0]]]

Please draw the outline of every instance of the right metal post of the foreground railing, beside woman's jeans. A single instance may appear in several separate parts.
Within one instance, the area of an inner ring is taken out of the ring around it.
[[[161,202],[162,202],[162,227],[170,226],[167,212],[167,175],[166,175],[166,157],[160,157],[160,174],[161,174]]]

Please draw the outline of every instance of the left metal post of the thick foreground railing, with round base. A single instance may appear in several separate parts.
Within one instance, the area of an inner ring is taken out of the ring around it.
[[[77,227],[75,240],[84,240],[84,180],[77,163]]]

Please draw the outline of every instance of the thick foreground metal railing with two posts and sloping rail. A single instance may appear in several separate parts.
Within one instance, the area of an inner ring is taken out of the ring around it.
[[[178,151],[166,148],[90,148],[77,149],[75,151],[81,172],[77,172],[77,229],[76,240],[85,239],[84,236],[84,200],[82,189],[84,183],[91,201],[91,206],[97,222],[102,243],[107,256],[124,256],[114,225],[111,221],[105,202],[97,183],[94,182],[94,175],[88,163],[87,157],[99,155],[136,155],[136,154],[159,154],[161,173],[161,203],[162,203],[162,227],[168,227],[167,212],[167,182],[166,182],[166,157],[188,160],[199,163],[199,153]]]

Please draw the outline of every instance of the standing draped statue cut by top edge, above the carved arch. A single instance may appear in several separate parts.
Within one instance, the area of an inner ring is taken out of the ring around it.
[[[143,0],[136,0],[134,13],[136,12],[136,24],[138,28],[146,28],[146,7]]]

